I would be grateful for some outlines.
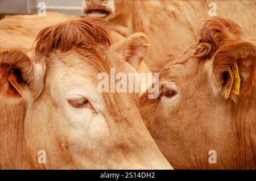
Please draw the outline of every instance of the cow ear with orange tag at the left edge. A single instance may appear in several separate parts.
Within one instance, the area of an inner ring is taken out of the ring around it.
[[[41,69],[41,70],[40,70]],[[43,67],[20,50],[0,52],[0,95],[3,99],[31,98],[42,91]]]

